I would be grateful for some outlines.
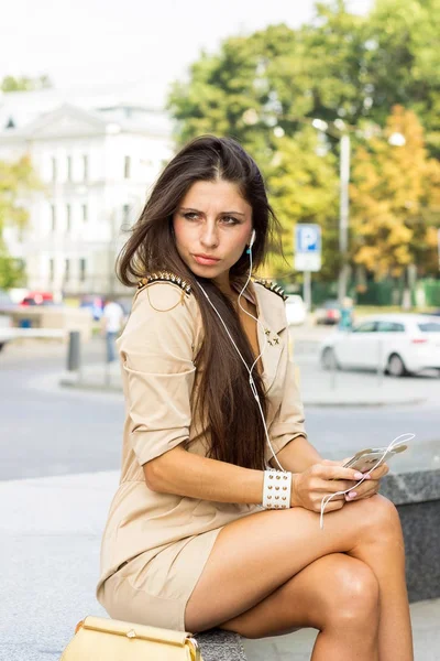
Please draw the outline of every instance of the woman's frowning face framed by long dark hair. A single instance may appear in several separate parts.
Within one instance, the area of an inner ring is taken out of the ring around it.
[[[229,269],[251,240],[252,207],[235,184],[200,181],[180,201],[173,226],[177,251],[187,267],[196,275],[227,283]]]

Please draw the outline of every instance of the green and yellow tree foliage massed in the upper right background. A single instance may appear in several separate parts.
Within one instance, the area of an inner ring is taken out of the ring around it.
[[[343,120],[354,148],[364,144],[352,170],[352,259],[377,277],[413,260],[420,272],[433,273],[438,181],[429,155],[440,156],[439,22],[440,0],[376,0],[366,17],[350,13],[344,0],[332,0],[317,2],[314,20],[296,30],[280,24],[230,36],[218,52],[201,54],[187,82],[173,86],[168,109],[176,120],[176,142],[207,132],[240,140],[266,177],[287,258],[295,223],[321,225],[320,277],[328,279],[339,266],[339,140],[329,136],[322,153],[305,124],[314,118],[330,124]],[[365,130],[385,127],[396,105],[413,112],[396,110],[389,122],[405,120],[415,136],[406,136],[403,150],[386,138],[365,144]],[[400,166],[406,171],[398,176]],[[416,181],[419,192],[413,191]],[[382,195],[387,185],[393,203]],[[397,208],[400,196],[414,202],[411,210]],[[369,224],[362,224],[362,199],[370,205],[369,217],[373,209],[378,214],[371,224],[381,227],[378,261],[372,258]],[[358,236],[358,229],[364,234]],[[272,263],[276,272],[286,271],[276,256]]]

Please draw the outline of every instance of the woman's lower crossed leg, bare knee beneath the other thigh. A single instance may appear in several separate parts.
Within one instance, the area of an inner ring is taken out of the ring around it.
[[[262,630],[266,636],[295,631],[294,621],[319,630],[312,661],[378,661],[378,597],[377,579],[364,563],[331,553],[220,628],[260,638]]]

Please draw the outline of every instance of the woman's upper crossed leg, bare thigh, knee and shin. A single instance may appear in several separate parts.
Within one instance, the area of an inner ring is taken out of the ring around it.
[[[360,560],[377,578],[381,661],[411,661],[402,529],[396,508],[382,496],[327,513],[323,530],[319,516],[302,508],[257,512],[227,525],[188,600],[187,629],[199,631],[237,618],[331,553]],[[304,624],[294,617],[289,628],[296,626]],[[272,626],[268,631],[273,633]],[[265,635],[263,621],[256,637]]]

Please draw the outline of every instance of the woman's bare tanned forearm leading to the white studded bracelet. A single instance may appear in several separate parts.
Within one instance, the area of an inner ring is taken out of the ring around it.
[[[258,505],[263,500],[263,470],[201,457],[182,445],[144,464],[143,470],[153,491],[216,502]]]

